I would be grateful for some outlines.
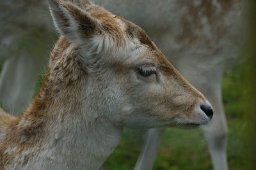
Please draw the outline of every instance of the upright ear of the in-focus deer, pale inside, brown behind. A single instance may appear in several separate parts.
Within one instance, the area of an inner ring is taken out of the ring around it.
[[[61,0],[48,0],[49,9],[56,29],[76,45],[100,34],[100,22],[89,13],[72,3]]]

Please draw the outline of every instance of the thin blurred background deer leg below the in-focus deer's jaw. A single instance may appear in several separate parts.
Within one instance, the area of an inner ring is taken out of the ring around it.
[[[160,141],[160,134],[164,132],[164,129],[150,129],[147,132],[147,138],[143,149],[140,152],[140,156],[136,162],[134,170],[150,170],[154,167],[154,161],[157,154],[157,146]]]

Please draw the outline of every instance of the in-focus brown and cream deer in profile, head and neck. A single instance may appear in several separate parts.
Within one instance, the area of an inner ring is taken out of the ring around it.
[[[61,36],[28,109],[0,112],[0,169],[99,169],[124,127],[211,121],[209,101],[138,25],[89,0],[48,3]]]

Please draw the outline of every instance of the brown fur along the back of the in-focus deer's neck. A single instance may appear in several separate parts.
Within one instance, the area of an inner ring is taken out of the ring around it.
[[[33,145],[40,143],[44,138],[45,129],[49,128],[49,120],[54,119],[54,115],[47,113],[47,106],[54,103],[54,96],[58,95],[61,89],[65,89],[81,78],[83,69],[77,64],[77,57],[67,55],[63,57],[70,43],[66,38],[61,37],[51,57],[51,67],[45,76],[45,81],[38,95],[33,99],[31,106],[19,118],[12,117],[6,113],[1,113],[3,118],[1,126],[6,125],[8,129],[6,137],[0,145],[0,169],[3,169],[10,160],[19,157],[19,154]],[[76,52],[72,52],[76,53]],[[76,69],[77,67],[77,69]],[[52,79],[50,80],[50,75]],[[70,90],[71,91],[71,90]],[[5,120],[5,121],[4,121]],[[17,146],[17,150],[12,154],[5,153],[4,150]],[[24,165],[26,164],[24,160]]]

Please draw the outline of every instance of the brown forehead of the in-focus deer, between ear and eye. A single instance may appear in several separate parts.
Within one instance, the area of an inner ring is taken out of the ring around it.
[[[113,43],[117,46],[122,46],[124,42],[132,41],[132,50],[140,47],[148,48],[148,50],[158,50],[154,43],[148,38],[146,32],[138,25],[122,17],[113,15],[109,11],[104,10],[104,8],[96,5],[86,8],[86,11],[100,20],[103,25],[102,31],[110,36],[113,39]],[[142,51],[143,50],[141,50],[141,52]]]

